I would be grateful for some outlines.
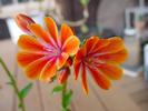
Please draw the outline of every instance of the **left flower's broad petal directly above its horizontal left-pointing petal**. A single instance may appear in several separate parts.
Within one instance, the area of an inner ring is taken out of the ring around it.
[[[29,51],[43,51],[43,47],[33,37],[26,34],[20,36],[18,46]]]

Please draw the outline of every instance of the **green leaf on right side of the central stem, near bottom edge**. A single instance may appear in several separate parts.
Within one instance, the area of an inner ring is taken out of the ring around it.
[[[70,90],[63,97],[63,101],[62,101],[62,107],[63,108],[66,108],[66,109],[68,108],[68,105],[71,102],[71,98],[72,98],[72,91]]]

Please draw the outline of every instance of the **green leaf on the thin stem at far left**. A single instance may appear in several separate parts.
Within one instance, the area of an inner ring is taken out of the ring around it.
[[[29,93],[29,91],[31,90],[31,88],[32,88],[32,83],[27,84],[27,85],[20,91],[19,95],[20,95],[21,98],[26,98],[27,94]]]

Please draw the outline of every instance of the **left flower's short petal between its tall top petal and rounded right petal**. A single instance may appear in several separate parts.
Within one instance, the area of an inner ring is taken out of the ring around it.
[[[61,37],[61,44],[65,43],[65,41],[70,38],[71,36],[73,36],[72,30],[70,29],[70,27],[68,27],[67,24],[62,24],[61,26],[61,32],[60,32],[60,37]]]

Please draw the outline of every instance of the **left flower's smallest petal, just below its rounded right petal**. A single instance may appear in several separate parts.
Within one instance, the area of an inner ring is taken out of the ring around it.
[[[58,69],[62,68],[68,59],[68,54],[67,53],[61,53],[61,56],[58,58],[58,61],[57,61],[57,67]]]

